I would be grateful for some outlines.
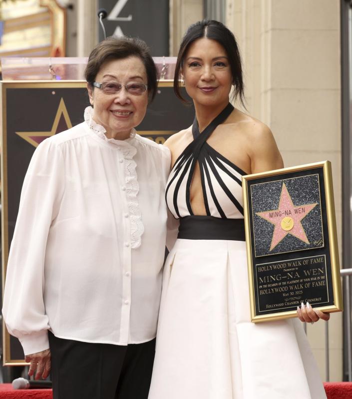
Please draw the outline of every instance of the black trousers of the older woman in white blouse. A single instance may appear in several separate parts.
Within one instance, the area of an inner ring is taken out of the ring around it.
[[[56,338],[49,332],[53,399],[147,399],[155,339],[127,346]]]

